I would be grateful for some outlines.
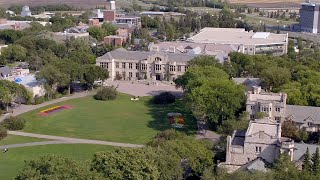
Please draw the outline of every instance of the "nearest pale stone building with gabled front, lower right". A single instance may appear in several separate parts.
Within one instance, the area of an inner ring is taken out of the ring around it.
[[[246,131],[237,130],[227,137],[226,162],[221,166],[231,172],[249,164],[261,168],[262,163],[266,168],[284,152],[293,160],[294,142],[281,137],[281,123],[269,117],[255,119],[250,121]]]

